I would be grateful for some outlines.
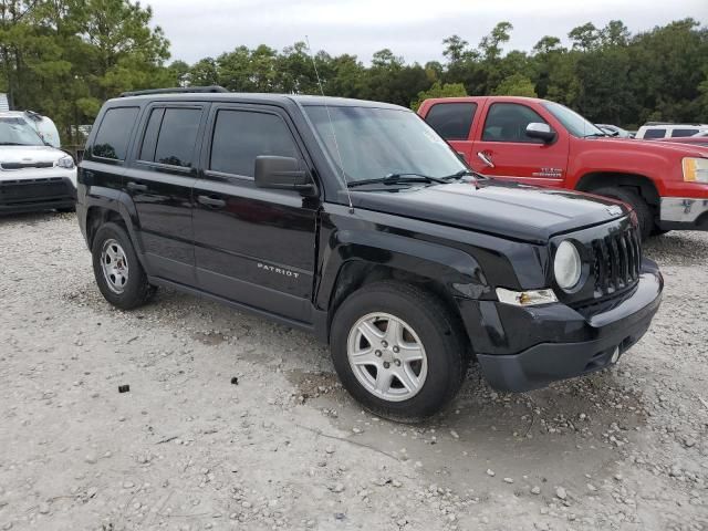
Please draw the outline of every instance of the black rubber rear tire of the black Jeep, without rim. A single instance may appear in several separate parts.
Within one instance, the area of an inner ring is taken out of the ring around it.
[[[127,281],[119,293],[111,288],[110,280],[106,279],[102,268],[104,244],[111,240],[121,246],[128,267]],[[91,252],[93,254],[93,273],[98,289],[105,300],[114,306],[121,310],[133,310],[144,305],[155,294],[156,289],[147,281],[147,274],[135,253],[131,238],[119,225],[113,222],[102,225],[93,239]]]

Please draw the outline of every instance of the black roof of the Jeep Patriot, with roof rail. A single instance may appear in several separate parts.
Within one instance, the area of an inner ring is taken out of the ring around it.
[[[287,106],[291,104],[302,106],[330,105],[336,107],[372,107],[404,110],[399,105],[383,102],[369,102],[367,100],[352,100],[347,97],[295,95],[295,94],[268,94],[268,93],[238,93],[238,92],[179,92],[179,93],[153,93],[125,95],[111,100],[112,103],[126,103],[132,101],[174,101],[174,102],[242,102],[277,104]],[[408,110],[406,110],[408,111]]]

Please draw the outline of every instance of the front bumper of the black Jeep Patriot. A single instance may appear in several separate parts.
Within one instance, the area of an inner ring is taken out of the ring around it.
[[[592,308],[574,310],[560,303],[517,308],[493,302],[496,316],[491,306],[482,309],[483,332],[478,331],[486,334],[479,343],[487,345],[487,353],[477,347],[470,330],[475,326],[468,325],[465,312],[462,316],[490,385],[524,392],[611,365],[616,350],[623,354],[647,331],[663,289],[662,273],[645,259],[632,292],[598,306],[597,313]],[[525,346],[517,351],[519,345]]]

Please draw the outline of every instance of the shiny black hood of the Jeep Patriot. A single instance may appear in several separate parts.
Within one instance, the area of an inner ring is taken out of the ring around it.
[[[387,190],[352,190],[355,207],[544,243],[626,216],[625,204],[589,194],[493,179]]]

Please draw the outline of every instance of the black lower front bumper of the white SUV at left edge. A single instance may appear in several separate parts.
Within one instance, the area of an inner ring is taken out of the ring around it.
[[[0,215],[73,208],[76,204],[75,178],[53,175],[0,180]]]

